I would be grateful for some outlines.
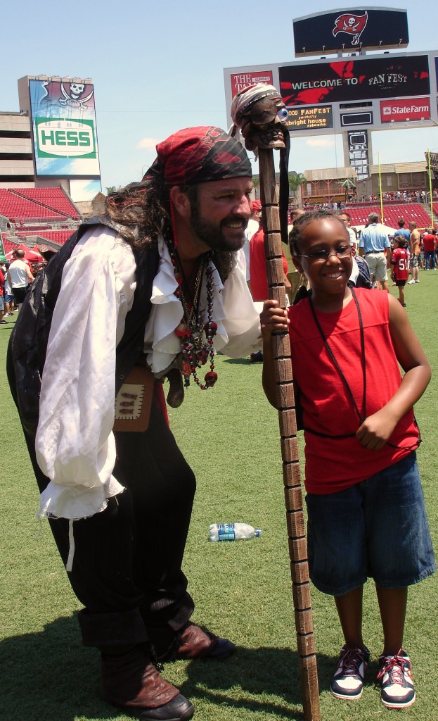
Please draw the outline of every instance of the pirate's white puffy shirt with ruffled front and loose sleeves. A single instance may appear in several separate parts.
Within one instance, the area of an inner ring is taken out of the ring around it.
[[[158,239],[160,264],[153,282],[145,353],[153,372],[167,368],[181,342],[174,329],[182,306],[169,251]],[[50,483],[38,515],[86,518],[104,510],[122,492],[115,465],[115,360],[125,317],[133,305],[135,258],[130,244],[110,228],[87,231],[63,269],[53,312],[40,395],[35,441],[37,461]],[[241,358],[260,347],[259,309],[246,286],[245,261],[223,286],[215,270],[216,350]],[[205,286],[205,283],[203,284]],[[205,287],[201,293],[201,307]]]

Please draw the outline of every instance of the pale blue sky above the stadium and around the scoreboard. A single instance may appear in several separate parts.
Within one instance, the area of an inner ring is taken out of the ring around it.
[[[231,124],[223,68],[293,62],[292,19],[340,7],[406,9],[407,51],[438,48],[437,0],[22,0],[4,16],[0,110],[19,110],[24,75],[92,78],[102,187],[125,185],[140,180],[156,143],[179,128]],[[422,161],[427,149],[438,150],[438,128],[372,133],[382,164]],[[341,136],[292,138],[290,170],[343,165]]]

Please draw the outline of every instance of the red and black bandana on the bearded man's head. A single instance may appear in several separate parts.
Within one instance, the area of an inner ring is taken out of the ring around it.
[[[171,186],[252,176],[241,143],[213,125],[184,128],[158,143],[156,151],[156,160],[143,180],[161,175]]]

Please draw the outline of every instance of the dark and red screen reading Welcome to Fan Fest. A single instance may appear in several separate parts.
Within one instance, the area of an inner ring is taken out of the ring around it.
[[[426,55],[346,58],[333,63],[280,66],[286,107],[429,95]]]

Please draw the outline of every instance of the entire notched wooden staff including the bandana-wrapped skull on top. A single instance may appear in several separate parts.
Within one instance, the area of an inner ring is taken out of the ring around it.
[[[266,255],[269,298],[286,307],[282,239],[287,242],[287,203],[289,184],[287,160],[289,131],[287,110],[277,89],[255,84],[242,90],[231,105],[234,135],[239,128],[246,149],[259,156],[262,224]],[[277,192],[273,149],[280,150],[280,194]],[[280,198],[279,198],[280,195]],[[297,631],[300,681],[305,721],[320,721],[318,672],[310,604],[307,542],[300,483],[295,398],[292,383],[290,342],[287,333],[272,333],[277,408],[280,421],[287,534],[289,536],[295,627]]]

